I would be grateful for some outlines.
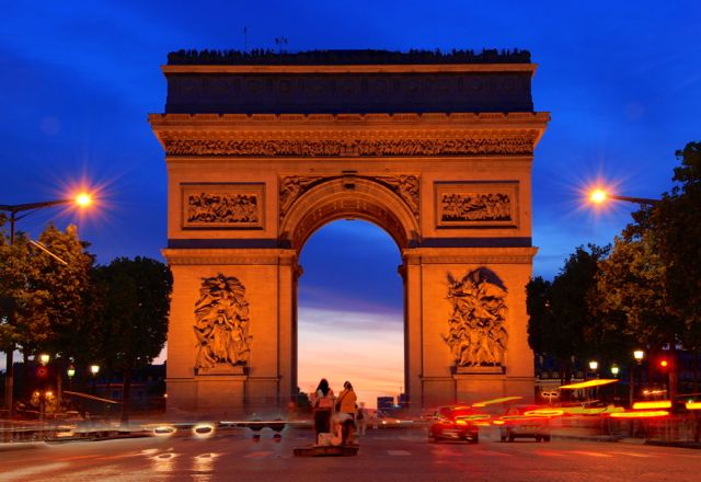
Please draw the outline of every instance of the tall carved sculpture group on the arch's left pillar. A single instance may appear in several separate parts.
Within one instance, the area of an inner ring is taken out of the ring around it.
[[[203,278],[195,303],[197,357],[195,370],[218,366],[248,366],[251,336],[245,287],[233,276],[219,273]]]

